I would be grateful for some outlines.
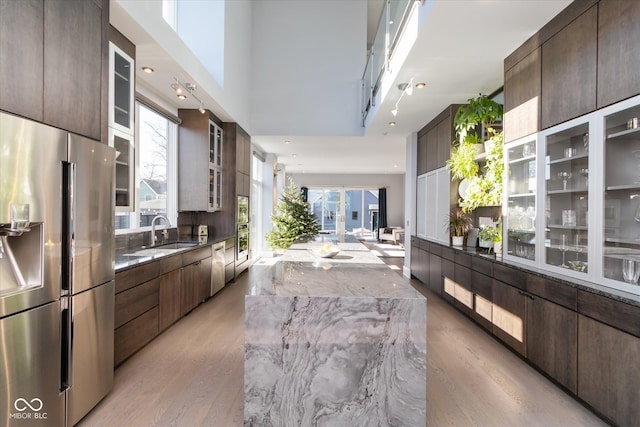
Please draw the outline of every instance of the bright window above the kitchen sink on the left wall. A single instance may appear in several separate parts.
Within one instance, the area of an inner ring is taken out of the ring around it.
[[[151,226],[156,215],[176,225],[176,125],[136,102],[135,205],[133,212],[116,213],[119,232]]]

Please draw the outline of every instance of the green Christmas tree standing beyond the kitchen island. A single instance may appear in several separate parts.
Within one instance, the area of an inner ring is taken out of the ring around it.
[[[293,182],[285,188],[271,221],[273,228],[266,239],[273,249],[287,249],[298,237],[314,236],[319,231],[316,216],[309,212],[309,203],[302,199],[302,191]]]

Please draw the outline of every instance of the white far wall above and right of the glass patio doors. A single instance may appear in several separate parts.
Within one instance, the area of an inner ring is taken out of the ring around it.
[[[387,188],[387,225],[401,227],[405,221],[404,174],[289,174],[300,187],[373,187]]]

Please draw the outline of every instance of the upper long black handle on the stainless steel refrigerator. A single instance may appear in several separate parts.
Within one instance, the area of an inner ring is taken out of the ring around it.
[[[62,162],[62,294],[71,291],[73,275],[73,184],[75,182],[75,164]]]

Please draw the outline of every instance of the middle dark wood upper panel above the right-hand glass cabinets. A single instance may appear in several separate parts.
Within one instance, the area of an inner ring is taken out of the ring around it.
[[[593,6],[542,45],[543,129],[596,108],[597,11]]]

